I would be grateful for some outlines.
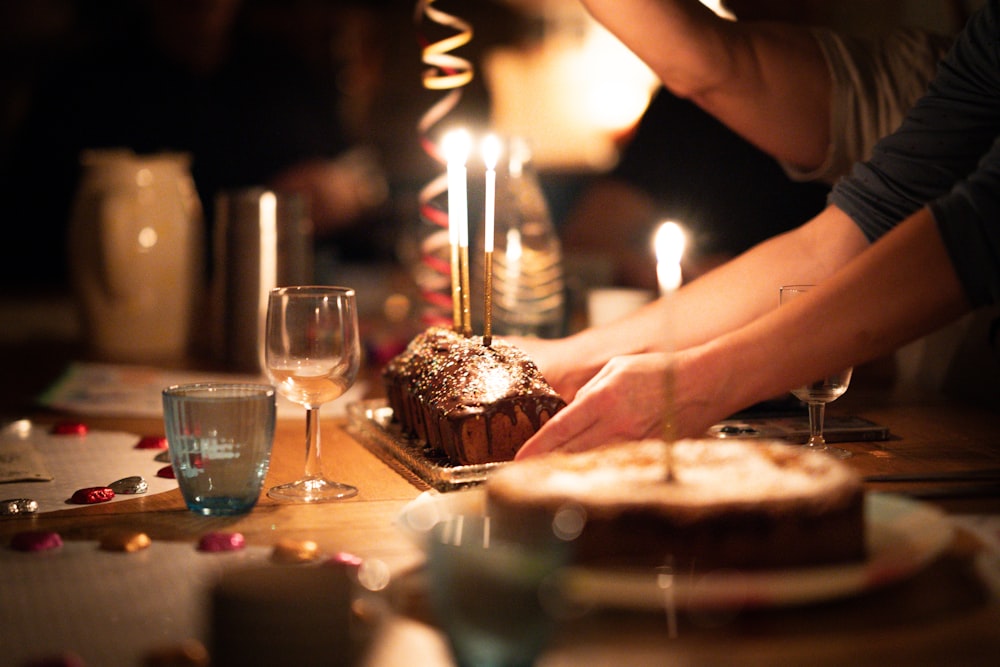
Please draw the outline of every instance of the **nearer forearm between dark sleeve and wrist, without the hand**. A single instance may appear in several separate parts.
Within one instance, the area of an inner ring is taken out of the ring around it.
[[[700,428],[830,371],[885,355],[968,308],[935,223],[922,209],[808,299],[682,355],[688,370],[678,393],[690,392],[685,400],[705,410],[692,419]]]

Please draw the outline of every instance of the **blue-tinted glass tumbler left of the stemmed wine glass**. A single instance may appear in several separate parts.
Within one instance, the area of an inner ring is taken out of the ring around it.
[[[205,516],[244,514],[271,460],[274,387],[200,383],[163,390],[170,463],[184,502]]]

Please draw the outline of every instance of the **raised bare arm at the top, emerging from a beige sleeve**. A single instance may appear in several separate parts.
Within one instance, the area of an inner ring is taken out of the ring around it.
[[[674,94],[779,160],[823,164],[830,73],[808,28],[729,21],[698,0],[581,0]]]

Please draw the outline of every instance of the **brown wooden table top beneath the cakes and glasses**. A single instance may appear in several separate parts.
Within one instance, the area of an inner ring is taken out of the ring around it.
[[[885,442],[845,445],[855,453],[850,464],[863,474],[1000,468],[996,416],[989,411],[940,402],[893,404],[861,392],[853,399],[845,397],[840,408],[892,431]],[[162,424],[155,420],[86,421],[99,429],[162,433]],[[279,421],[268,484],[301,473],[303,428],[298,421]],[[281,538],[315,540],[327,553],[347,551],[381,559],[396,577],[396,584],[383,594],[395,611],[384,617],[366,664],[450,664],[442,635],[427,622],[421,596],[414,594],[419,579],[411,570],[421,553],[394,526],[401,508],[423,488],[363,447],[342,421],[325,420],[323,439],[332,475],[356,484],[356,498],[306,506],[265,497],[248,515],[205,518],[185,509],[180,494],[173,491],[112,505],[4,518],[0,542],[26,529],[56,530],[67,540],[89,540],[115,528],[141,530],[154,541],[194,542],[209,530],[240,531],[248,543],[258,545]],[[902,491],[918,485],[881,483],[871,488]],[[954,513],[1000,515],[1000,493],[936,502]],[[918,575],[849,599],[762,611],[681,613],[675,638],[668,637],[661,614],[589,613],[562,629],[540,664],[995,664],[1000,655],[1000,602],[974,572],[980,549],[970,534],[960,532],[947,553]]]

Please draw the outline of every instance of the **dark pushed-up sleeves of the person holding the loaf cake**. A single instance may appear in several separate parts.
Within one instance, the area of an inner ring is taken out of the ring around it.
[[[988,0],[928,94],[831,203],[876,240],[924,206],[974,305],[1000,301],[1000,0]]]

